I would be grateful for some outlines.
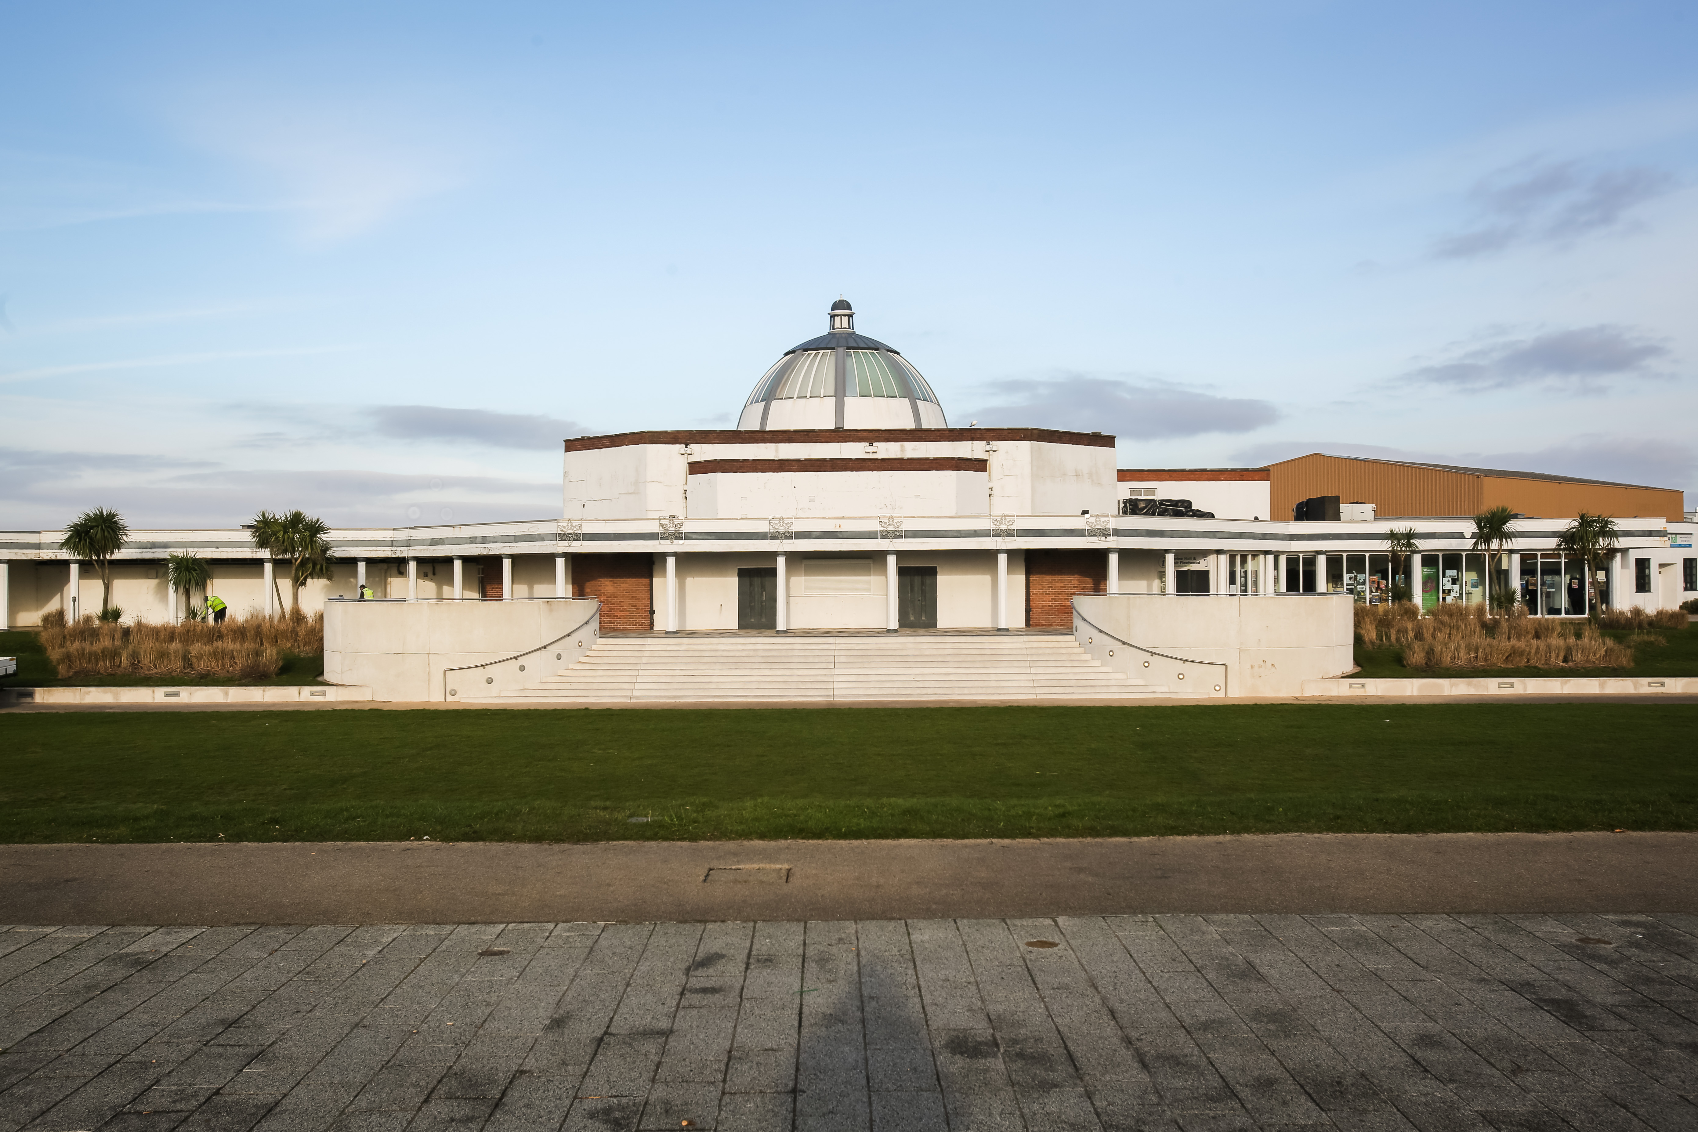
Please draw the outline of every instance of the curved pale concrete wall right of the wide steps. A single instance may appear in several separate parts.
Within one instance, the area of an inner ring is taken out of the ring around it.
[[[1163,665],[1143,667],[1139,650],[1226,665],[1224,696],[1301,696],[1304,681],[1343,675],[1355,667],[1350,594],[1270,597],[1080,594],[1073,599],[1073,635],[1099,664],[1138,679],[1170,677]],[[1134,645],[1114,648],[1090,630]],[[1114,657],[1109,650],[1114,648]],[[1216,669],[1219,672],[1219,669]],[[1197,677],[1187,681],[1194,682]],[[1172,684],[1173,691],[1190,691]],[[1214,679],[1207,691],[1211,694]]]

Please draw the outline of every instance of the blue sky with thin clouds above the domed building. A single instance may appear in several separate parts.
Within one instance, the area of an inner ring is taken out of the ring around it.
[[[1122,467],[1698,490],[1691,3],[3,14],[3,528],[552,516],[839,294]]]

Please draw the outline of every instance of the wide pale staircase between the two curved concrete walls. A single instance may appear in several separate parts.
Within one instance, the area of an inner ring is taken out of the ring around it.
[[[1092,660],[1070,635],[603,636],[501,699],[830,701],[1170,696]]]

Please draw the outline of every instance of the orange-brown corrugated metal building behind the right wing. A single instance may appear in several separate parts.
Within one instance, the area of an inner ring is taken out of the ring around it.
[[[1479,514],[1498,504],[1542,519],[1567,519],[1581,511],[1616,518],[1657,516],[1676,523],[1683,518],[1683,492],[1671,487],[1542,472],[1363,460],[1318,451],[1270,463],[1268,472],[1277,518],[1290,518],[1297,502],[1316,496],[1338,496],[1340,502],[1372,502],[1380,518]]]

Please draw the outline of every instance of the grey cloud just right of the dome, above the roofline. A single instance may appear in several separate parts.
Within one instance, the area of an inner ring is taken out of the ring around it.
[[[985,389],[990,390],[992,404],[966,414],[980,424],[1100,431],[1134,440],[1248,433],[1280,416],[1267,401],[1217,397],[1153,380],[1063,375],[1049,380],[990,382]]]

